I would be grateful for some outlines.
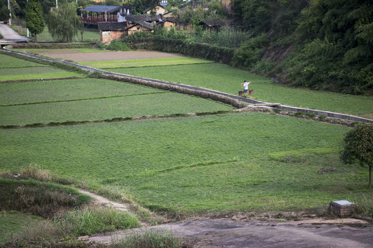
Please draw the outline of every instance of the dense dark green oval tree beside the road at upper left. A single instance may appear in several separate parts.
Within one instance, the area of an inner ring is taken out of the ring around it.
[[[44,17],[41,4],[38,0],[29,0],[26,6],[26,28],[34,34],[37,43],[37,34],[44,31]]]

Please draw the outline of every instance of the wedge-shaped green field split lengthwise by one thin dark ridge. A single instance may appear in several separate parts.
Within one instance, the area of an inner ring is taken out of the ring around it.
[[[0,125],[233,110],[230,105],[104,79],[0,84]]]

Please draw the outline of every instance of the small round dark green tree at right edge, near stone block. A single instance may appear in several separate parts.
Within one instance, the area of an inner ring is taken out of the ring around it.
[[[344,149],[341,152],[343,163],[358,162],[362,167],[369,167],[369,188],[372,189],[373,164],[373,125],[358,125],[344,138]]]

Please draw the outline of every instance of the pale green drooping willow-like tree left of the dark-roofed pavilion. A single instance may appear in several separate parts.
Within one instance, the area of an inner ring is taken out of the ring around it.
[[[64,3],[59,8],[52,8],[48,17],[48,30],[52,37],[61,42],[72,42],[83,23],[77,15],[75,3]]]

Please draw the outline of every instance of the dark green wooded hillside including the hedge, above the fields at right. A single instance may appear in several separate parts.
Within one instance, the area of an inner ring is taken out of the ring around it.
[[[125,41],[135,49],[229,63],[285,85],[372,95],[372,1],[235,0],[233,10],[231,18],[220,15],[231,23],[230,31],[156,28]],[[208,13],[200,19],[218,18]],[[181,14],[179,22],[184,18]],[[245,33],[249,38],[242,39]]]

